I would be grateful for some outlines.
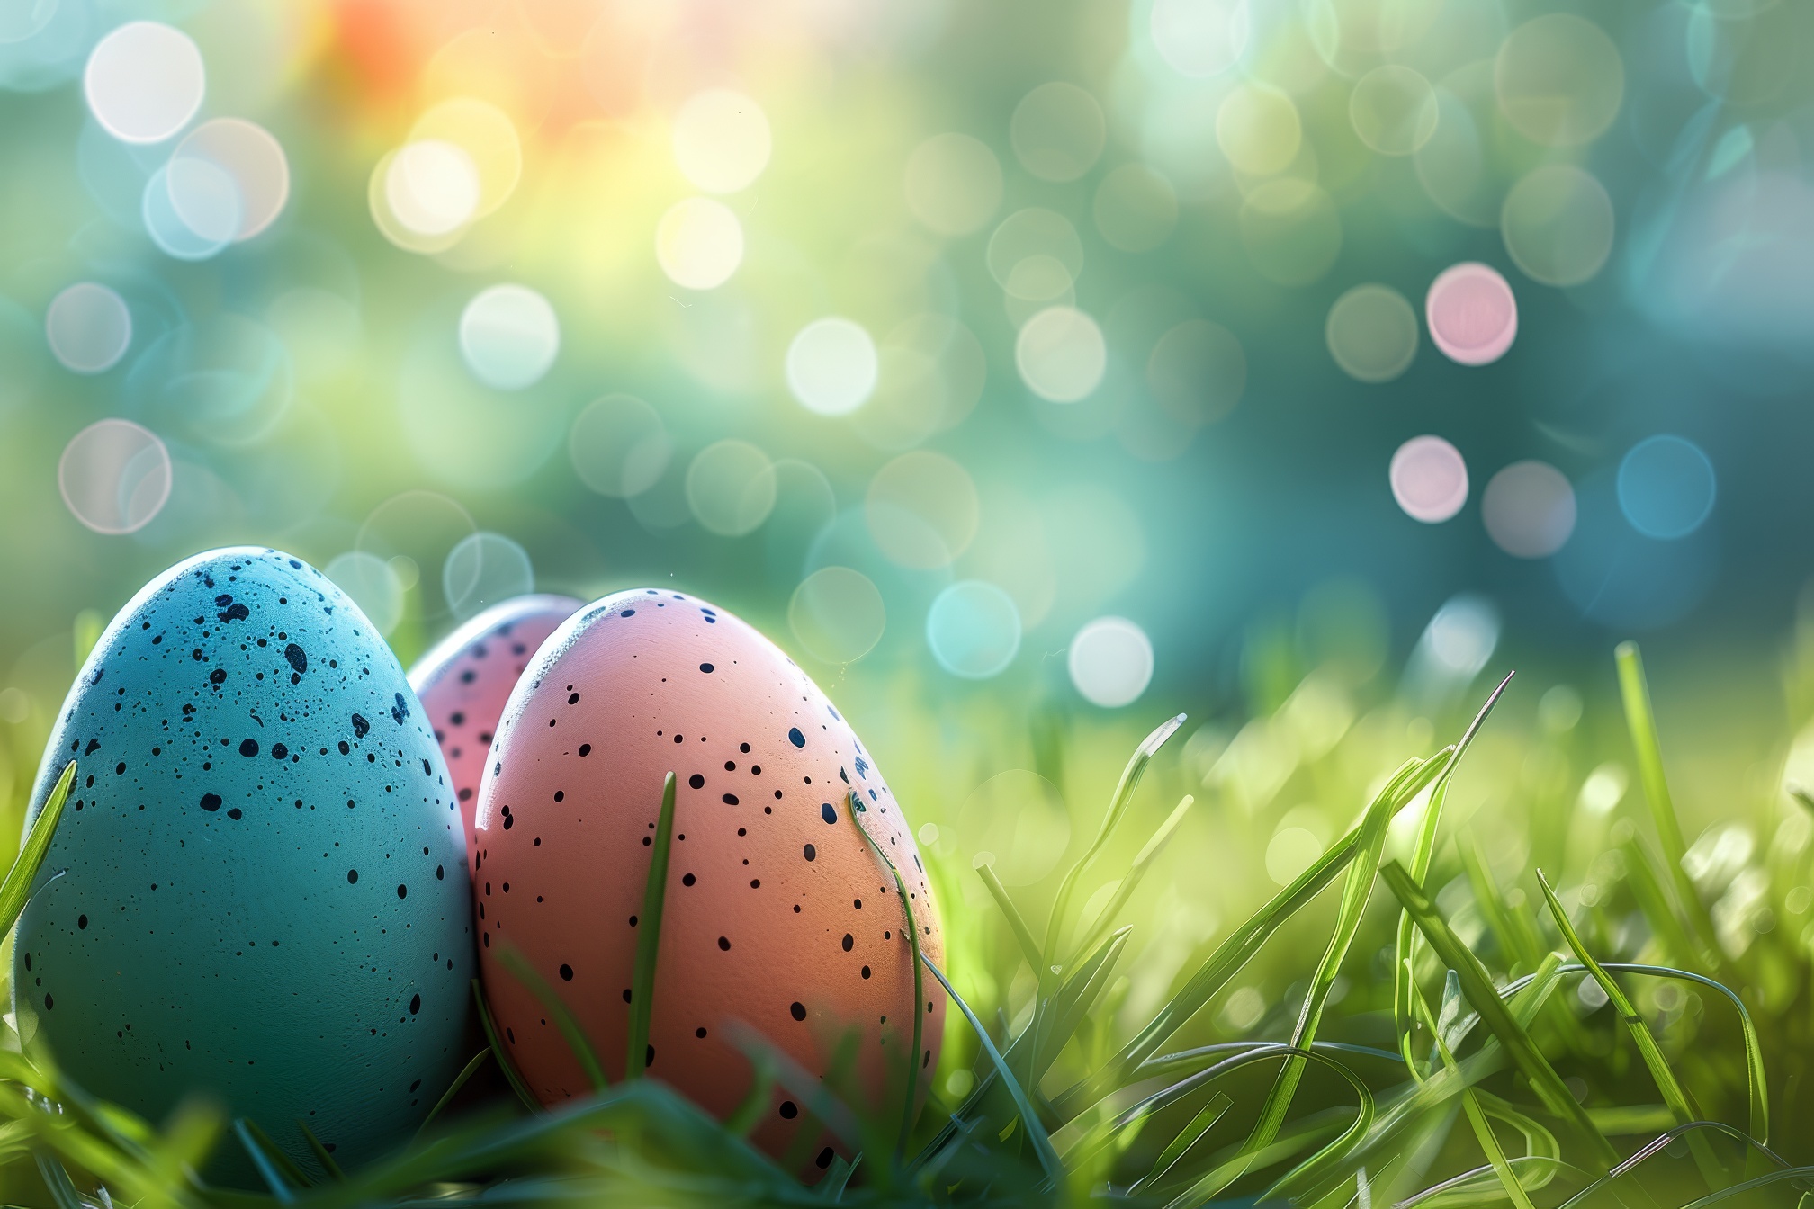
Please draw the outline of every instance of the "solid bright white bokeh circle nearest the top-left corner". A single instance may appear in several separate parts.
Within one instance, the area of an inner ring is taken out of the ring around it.
[[[201,49],[163,22],[127,22],[89,53],[89,112],[123,143],[161,143],[196,116],[207,92]]]

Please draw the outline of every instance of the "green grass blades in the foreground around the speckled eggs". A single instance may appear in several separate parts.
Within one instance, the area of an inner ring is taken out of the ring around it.
[[[660,1010],[651,995],[669,778],[622,1082],[606,1084],[553,988],[506,955],[506,968],[548,1001],[591,1075],[590,1098],[530,1107],[493,1039],[459,1084],[495,1057],[521,1104],[508,1095],[473,1104],[468,1091],[455,1113],[457,1084],[417,1138],[383,1162],[341,1173],[314,1144],[330,1178],[312,1184],[285,1138],[261,1127],[278,1122],[192,1104],[152,1126],[93,1102],[47,1060],[0,1051],[0,1171],[11,1196],[56,1209],[403,1209],[443,1200],[1803,1209],[1803,1196],[1814,1196],[1814,1167],[1794,1165],[1814,1158],[1814,1140],[1801,1136],[1807,1117],[1798,1115],[1810,1053],[1809,946],[1787,923],[1734,930],[1721,886],[1705,868],[1696,877],[1700,848],[1676,817],[1649,687],[1629,643],[1616,669],[1631,741],[1624,758],[1638,770],[1643,814],[1611,828],[1593,810],[1551,816],[1553,827],[1587,828],[1593,843],[1576,852],[1536,837],[1567,857],[1546,870],[1535,857],[1513,870],[1504,845],[1491,848],[1477,830],[1491,819],[1449,817],[1475,738],[1493,732],[1487,712],[1502,683],[1453,745],[1373,787],[1351,776],[1337,781],[1355,794],[1348,830],[1290,885],[1252,901],[1215,944],[1194,952],[1141,1011],[1130,1008],[1134,975],[1154,950],[1141,953],[1136,941],[1143,928],[1166,924],[1156,906],[1166,899],[1156,894],[1210,868],[1204,854],[1188,850],[1186,823],[1201,823],[1204,810],[1215,812],[1212,828],[1234,834],[1239,823],[1214,794],[1206,805],[1183,794],[1170,810],[1148,810],[1139,798],[1183,718],[1137,745],[1094,837],[1054,870],[1048,899],[1038,885],[1010,890],[987,863],[970,872],[932,861],[954,970],[914,943],[916,986],[941,990],[956,1011],[923,1107],[914,1098],[923,1088],[918,1033],[891,1078],[891,1102],[874,1115],[856,1107],[865,1097],[851,1095],[847,1064],[818,1078],[753,1030],[731,1030],[758,1077],[727,1122],[640,1078],[635,1059]],[[1536,741],[1511,750],[1531,759]],[[1493,772],[1504,767],[1502,750]],[[0,886],[5,926],[24,906],[71,779],[65,772]],[[1210,778],[1195,779],[1208,794]],[[1506,814],[1518,821],[1515,810]],[[849,798],[845,816],[869,839],[862,803]],[[1145,819],[1137,830],[1136,819]],[[1814,828],[1807,819],[1798,827],[1799,846],[1778,841],[1747,865],[1747,885],[1783,921],[1809,906],[1801,850]],[[961,888],[967,877],[974,892]],[[918,937],[898,872],[894,885],[907,935]],[[1727,895],[1731,885],[1736,879]],[[1092,886],[1097,906],[1079,908]],[[1029,915],[1041,903],[1047,921],[1036,935]],[[952,919],[960,912],[963,919]],[[1263,997],[1259,1017],[1232,1013],[1241,991],[1263,984],[1286,990]],[[965,988],[980,988],[978,1002]],[[490,1035],[483,999],[479,1013]],[[807,1185],[793,1175],[804,1151],[780,1160],[756,1151],[746,1135],[776,1086],[856,1160],[840,1158]],[[1787,1156],[1772,1149],[1772,1120]],[[245,1151],[265,1189],[203,1185],[192,1173],[214,1146]]]

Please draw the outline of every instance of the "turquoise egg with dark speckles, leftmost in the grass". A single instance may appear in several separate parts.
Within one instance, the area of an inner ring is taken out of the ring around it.
[[[296,1118],[341,1164],[406,1140],[468,1057],[472,906],[441,749],[359,607],[270,549],[171,567],[89,654],[27,827],[71,759],[13,946],[27,1051],[152,1122],[209,1095],[305,1169]]]

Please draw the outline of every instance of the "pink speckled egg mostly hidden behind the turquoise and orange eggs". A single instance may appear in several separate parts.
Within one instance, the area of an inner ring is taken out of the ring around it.
[[[561,622],[580,602],[571,596],[513,596],[468,620],[415,660],[410,687],[428,712],[466,832],[472,859],[472,816],[479,807],[479,774],[492,750],[497,720],[510,691]]]

